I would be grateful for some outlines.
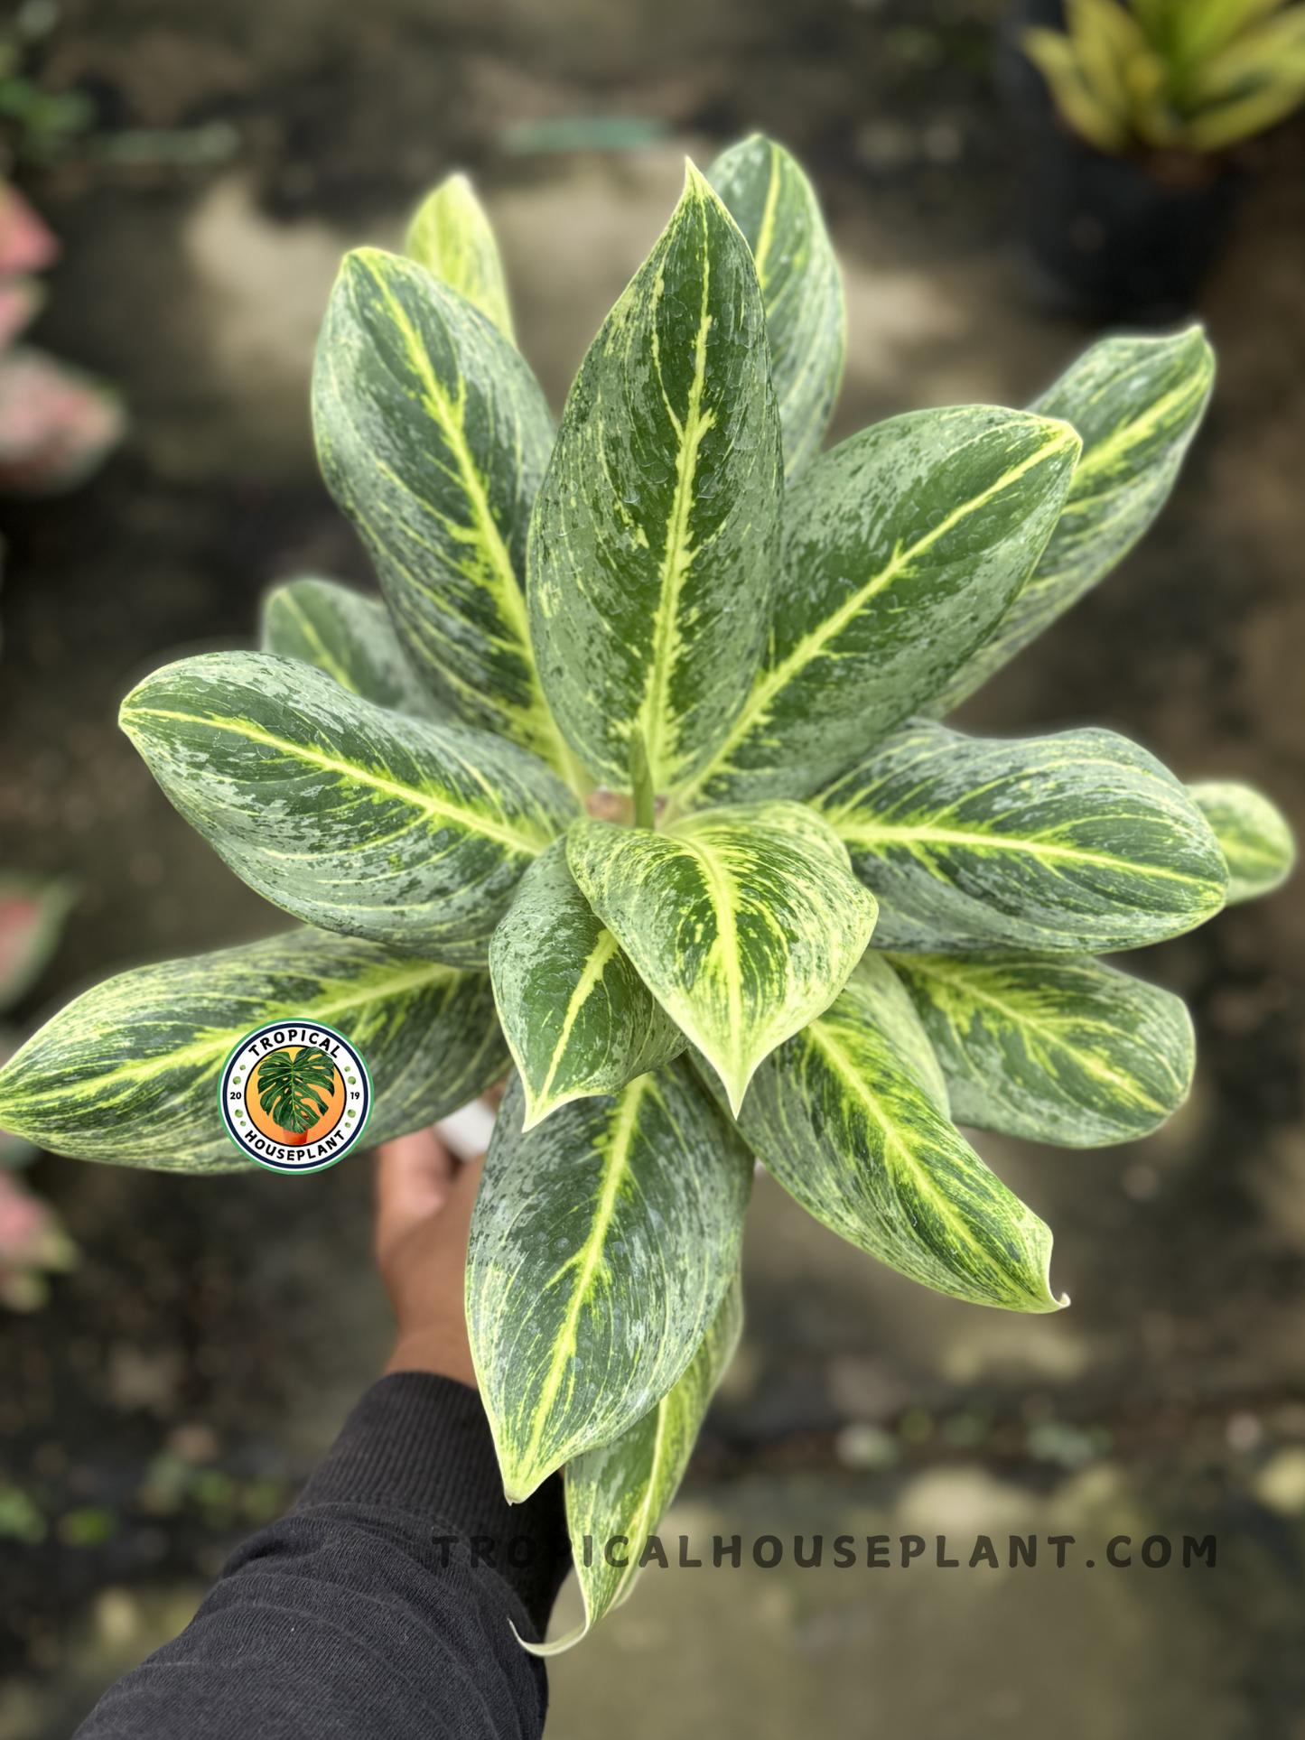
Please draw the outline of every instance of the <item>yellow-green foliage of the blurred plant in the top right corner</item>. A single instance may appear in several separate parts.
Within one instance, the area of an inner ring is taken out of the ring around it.
[[[1023,49],[1098,151],[1221,151],[1305,103],[1305,5],[1065,0],[1065,23]]]

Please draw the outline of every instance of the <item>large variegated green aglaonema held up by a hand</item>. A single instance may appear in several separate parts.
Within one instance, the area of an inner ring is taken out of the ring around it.
[[[219,1070],[261,1023],[362,1049],[374,1140],[512,1065],[466,1312],[508,1496],[566,1469],[586,1625],[738,1338],[753,1162],[924,1286],[1056,1310],[1049,1230],[957,1121],[1162,1124],[1187,1011],[1096,957],[1291,865],[1263,797],[1115,733],[938,722],[1152,522],[1209,397],[1201,331],[820,454],[842,358],[816,200],[760,137],[689,167],[560,428],[465,181],[407,258],[350,254],[313,411],[385,604],[292,581],[264,651],[122,710],[303,927],[110,980],[0,1075],[35,1141],[212,1171],[238,1164]]]

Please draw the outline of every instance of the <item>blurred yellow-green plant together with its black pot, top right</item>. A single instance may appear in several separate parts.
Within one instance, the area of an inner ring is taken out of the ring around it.
[[[999,68],[1042,294],[1173,318],[1223,242],[1246,141],[1305,101],[1305,5],[1018,0]]]

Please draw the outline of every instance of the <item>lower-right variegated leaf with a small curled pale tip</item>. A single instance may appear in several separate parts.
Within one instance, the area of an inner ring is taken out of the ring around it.
[[[1047,1312],[1051,1234],[947,1115],[912,1000],[877,950],[757,1070],[740,1129],[797,1201],[912,1281],[974,1305]]]

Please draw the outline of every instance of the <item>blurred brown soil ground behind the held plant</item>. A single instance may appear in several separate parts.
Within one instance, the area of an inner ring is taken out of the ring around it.
[[[1089,338],[1009,245],[1018,165],[966,0],[139,0],[70,3],[47,77],[108,127],[230,120],[207,172],[26,177],[64,240],[37,339],[120,383],[132,438],[78,496],[0,505],[0,863],[77,875],[37,1020],[117,967],[285,924],[172,813],[115,710],[177,651],[251,644],[270,579],[367,583],[311,456],[306,385],[339,252],[393,242],[472,169],[522,345],[560,404],[668,214],[684,150],[752,127],[821,186],[846,263],[835,433],[924,404],[1027,402]],[[670,141],[517,155],[522,120],[626,113]],[[967,708],[992,733],[1096,720],[1305,825],[1305,127],[1262,151],[1201,313],[1220,383],[1174,499],[1089,600]],[[1296,886],[1150,950],[1201,1039],[1188,1108],[1093,1154],[983,1140],[1056,1230],[1074,1308],[941,1300],[759,1183],[748,1333],[663,1535],[1056,1522],[1215,1533],[1197,1564],[652,1568],[552,1669],[557,1740],[800,1730],[919,1740],[1305,1737],[1305,905]],[[0,1542],[0,1740],[54,1740],[174,1632],[291,1502],[390,1333],[365,1159],[311,1181],[42,1159],[84,1253],[0,1324],[0,1467],[49,1517]],[[853,1429],[853,1430],[849,1430]],[[856,1467],[867,1462],[891,1467]],[[1295,1482],[1295,1484],[1293,1484]],[[694,1547],[694,1550],[698,1550]],[[826,1552],[830,1549],[826,1547]],[[896,1550],[896,1549],[894,1549]],[[1086,1550],[1086,1549],[1081,1549]],[[1100,1575],[1098,1575],[1100,1571]],[[672,1703],[673,1691],[673,1703]]]

